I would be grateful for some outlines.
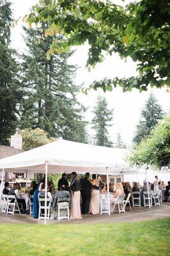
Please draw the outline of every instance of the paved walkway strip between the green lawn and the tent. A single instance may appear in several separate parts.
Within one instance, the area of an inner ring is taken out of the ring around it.
[[[118,222],[127,222],[127,221],[143,221],[143,220],[157,220],[160,218],[170,218],[170,203],[164,203],[161,206],[153,206],[151,209],[148,207],[134,207],[132,208],[132,212],[126,208],[125,213],[117,213],[114,212],[111,216],[108,214],[98,214],[91,215],[85,214],[82,215],[81,220],[49,220],[48,224],[92,224],[92,223],[118,223]],[[14,214],[14,215],[6,215],[0,213],[0,223],[43,223],[43,220],[38,221],[33,219],[29,214]]]

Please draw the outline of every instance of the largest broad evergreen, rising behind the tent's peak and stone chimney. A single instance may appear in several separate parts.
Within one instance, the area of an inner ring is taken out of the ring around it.
[[[81,88],[73,83],[76,67],[67,63],[70,52],[47,58],[54,38],[43,38],[46,28],[47,24],[36,29],[24,28],[27,54],[22,56],[24,97],[20,128],[39,127],[52,137],[85,142],[84,109],[76,99]]]

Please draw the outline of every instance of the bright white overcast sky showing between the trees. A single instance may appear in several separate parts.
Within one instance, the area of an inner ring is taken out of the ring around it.
[[[38,0],[12,0],[14,19],[19,19],[24,17],[29,13],[31,6],[38,2]],[[124,3],[120,0],[115,0],[118,4],[127,4],[129,1]],[[19,52],[24,51],[24,41],[22,39],[22,19],[17,22],[15,28],[12,31],[12,46],[15,47]],[[77,51],[70,58],[69,63],[78,65],[77,76],[75,79],[76,84],[84,83],[88,86],[94,80],[100,80],[104,77],[113,78],[118,77],[130,77],[135,76],[135,63],[128,58],[127,62],[121,60],[118,54],[113,54],[112,56],[106,56],[103,63],[98,64],[94,70],[88,72],[86,70],[86,60],[88,58],[88,45],[82,45],[77,47]],[[152,89],[158,102],[162,105],[164,111],[169,109],[169,93],[166,93],[166,88],[164,89]],[[89,107],[86,113],[86,120],[90,122],[92,118],[92,109],[96,102],[98,93],[105,95],[107,102],[109,103],[109,108],[114,108],[114,119],[113,126],[109,130],[111,140],[116,139],[116,133],[120,132],[123,141],[130,145],[132,137],[135,132],[135,125],[137,125],[140,117],[140,110],[144,105],[144,102],[148,99],[148,92],[139,93],[137,90],[132,90],[132,92],[123,93],[121,88],[113,89],[112,92],[103,93],[102,90],[97,92],[91,90],[88,95],[80,93],[78,95],[79,101],[84,104],[84,106]]]

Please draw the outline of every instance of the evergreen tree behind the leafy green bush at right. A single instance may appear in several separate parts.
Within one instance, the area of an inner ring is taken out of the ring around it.
[[[137,131],[134,136],[134,143],[139,144],[141,140],[148,136],[151,130],[163,118],[162,107],[158,104],[153,93],[150,94],[144,108],[141,111],[141,118],[137,125]]]

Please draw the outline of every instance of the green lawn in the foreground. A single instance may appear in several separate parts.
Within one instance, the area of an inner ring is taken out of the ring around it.
[[[170,218],[93,225],[1,224],[1,256],[170,255]]]

